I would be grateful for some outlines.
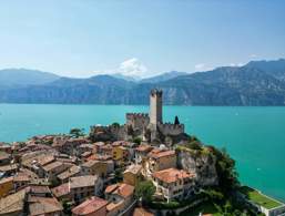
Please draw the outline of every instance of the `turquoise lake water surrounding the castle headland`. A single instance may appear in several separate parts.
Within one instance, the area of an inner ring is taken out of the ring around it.
[[[37,134],[89,131],[93,124],[124,123],[126,112],[149,106],[0,104],[0,142]],[[285,200],[285,107],[165,106],[164,121],[179,115],[186,132],[226,147],[242,183]]]

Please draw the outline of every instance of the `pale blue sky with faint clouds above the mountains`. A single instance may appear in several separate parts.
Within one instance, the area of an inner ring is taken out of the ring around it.
[[[283,0],[0,0],[0,69],[145,78],[279,58]]]

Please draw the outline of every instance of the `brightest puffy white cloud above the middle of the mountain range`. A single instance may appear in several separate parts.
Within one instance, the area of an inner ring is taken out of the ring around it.
[[[143,78],[147,75],[147,68],[139,59],[131,58],[120,64],[118,72],[123,75]]]

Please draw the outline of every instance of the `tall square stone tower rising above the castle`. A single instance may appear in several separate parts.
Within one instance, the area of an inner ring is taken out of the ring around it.
[[[162,91],[153,89],[150,95],[150,123],[162,123]]]

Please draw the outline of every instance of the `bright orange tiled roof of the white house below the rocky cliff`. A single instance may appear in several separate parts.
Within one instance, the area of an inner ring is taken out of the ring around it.
[[[160,181],[165,183],[174,183],[177,179],[195,177],[195,174],[191,174],[183,169],[176,168],[166,168],[163,171],[155,172],[152,175],[153,177],[159,178]]]

